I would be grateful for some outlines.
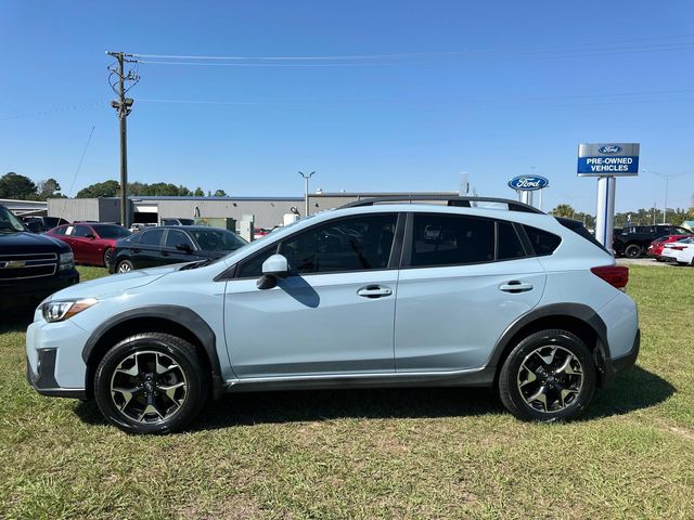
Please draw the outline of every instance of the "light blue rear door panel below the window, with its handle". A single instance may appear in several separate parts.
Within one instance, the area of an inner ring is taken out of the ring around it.
[[[538,304],[544,284],[544,270],[535,258],[403,269],[395,326],[397,372],[483,366],[505,328]]]

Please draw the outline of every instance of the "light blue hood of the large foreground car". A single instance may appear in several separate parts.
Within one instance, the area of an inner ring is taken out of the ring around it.
[[[70,298],[100,298],[113,294],[121,294],[128,289],[142,287],[159,280],[162,276],[177,271],[180,265],[166,265],[155,269],[142,269],[130,271],[129,273],[111,274],[102,278],[90,280],[81,284],[73,285],[66,289],[59,290],[51,300],[62,300]]]

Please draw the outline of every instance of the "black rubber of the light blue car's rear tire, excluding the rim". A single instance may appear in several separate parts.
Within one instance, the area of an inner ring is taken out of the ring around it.
[[[557,346],[571,352],[583,368],[581,391],[576,400],[560,412],[539,412],[529,406],[517,386],[518,370],[525,358],[539,347]],[[584,343],[575,335],[565,330],[542,330],[520,341],[509,354],[500,375],[500,392],[504,404],[518,418],[539,421],[562,421],[580,414],[590,403],[595,392],[596,369],[592,356]]]

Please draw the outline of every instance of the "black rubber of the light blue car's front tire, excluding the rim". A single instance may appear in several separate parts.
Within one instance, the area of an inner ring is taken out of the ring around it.
[[[194,348],[185,341],[163,335],[138,335],[125,339],[102,359],[94,375],[94,396],[99,410],[113,425],[129,433],[169,433],[183,428],[197,415],[206,399],[206,386]],[[177,344],[177,343],[183,343]],[[183,372],[188,385],[185,402],[170,418],[156,424],[141,424],[123,414],[111,396],[111,379],[124,359],[138,351],[156,351],[174,359]]]

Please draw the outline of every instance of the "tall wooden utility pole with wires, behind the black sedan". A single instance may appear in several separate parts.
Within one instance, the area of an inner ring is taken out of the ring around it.
[[[126,63],[137,63],[137,60],[132,60],[132,54],[125,54],[123,52],[106,52],[110,56],[116,58],[115,66],[110,66],[111,75],[108,76],[108,83],[111,88],[118,96],[117,101],[112,101],[111,106],[116,109],[118,121],[120,126],[120,225],[124,227],[130,227],[130,212],[128,211],[128,127],[126,118],[132,110],[132,99],[126,98],[126,92],[130,90],[140,80],[140,77],[132,70],[125,72]],[[115,77],[116,80],[112,81]],[[126,81],[130,82],[126,87]]]

